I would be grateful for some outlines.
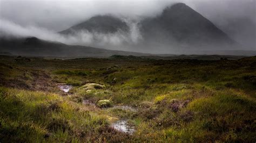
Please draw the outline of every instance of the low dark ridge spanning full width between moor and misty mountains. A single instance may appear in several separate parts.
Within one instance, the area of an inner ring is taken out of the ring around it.
[[[208,53],[207,53],[208,52]],[[204,55],[204,53],[208,55]],[[219,55],[212,55],[212,53]],[[229,54],[226,54],[229,53]],[[256,51],[201,51],[197,55],[174,55],[174,54],[145,54],[136,52],[126,51],[113,51],[102,48],[94,48],[87,46],[72,46],[66,45],[55,41],[45,41],[36,37],[29,38],[11,38],[4,39],[0,38],[0,55],[24,55],[24,56],[56,56],[66,58],[84,58],[84,57],[95,57],[95,58],[108,58],[111,56],[112,59],[220,59],[221,55],[238,55],[238,56],[227,56],[228,59],[237,59],[238,57],[254,56]],[[126,57],[127,56],[127,57]],[[135,57],[136,56],[136,57]],[[140,57],[138,57],[140,56]],[[225,57],[225,58],[227,58]]]

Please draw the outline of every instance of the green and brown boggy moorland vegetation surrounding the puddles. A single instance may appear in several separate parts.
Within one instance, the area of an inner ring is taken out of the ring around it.
[[[256,141],[255,56],[131,58],[0,56],[0,141]],[[64,93],[57,83],[73,88]],[[113,107],[98,108],[100,101]],[[111,126],[121,119],[132,134]]]

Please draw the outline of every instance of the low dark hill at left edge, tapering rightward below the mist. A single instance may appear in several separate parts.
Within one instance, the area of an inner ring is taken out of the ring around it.
[[[113,51],[87,46],[71,46],[55,41],[29,38],[0,38],[0,53],[25,56],[59,56],[59,57],[95,57],[107,58],[111,55],[151,55],[136,52]]]

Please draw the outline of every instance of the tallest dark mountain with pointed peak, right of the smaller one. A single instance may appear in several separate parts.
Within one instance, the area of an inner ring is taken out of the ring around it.
[[[149,45],[164,43],[197,50],[237,45],[210,20],[184,3],[165,8],[161,15],[144,19],[141,25],[142,35]]]

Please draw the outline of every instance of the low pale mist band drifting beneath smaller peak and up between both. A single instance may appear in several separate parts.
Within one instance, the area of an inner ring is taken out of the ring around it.
[[[123,19],[130,27],[129,32],[118,31],[116,33],[102,34],[91,33],[89,31],[80,31],[75,35],[62,35],[46,28],[35,26],[21,26],[8,20],[0,19],[1,36],[9,37],[37,37],[43,40],[59,41],[69,45],[87,45],[104,47],[110,49],[123,49],[122,45],[137,44],[142,39],[138,29],[138,22],[131,22],[129,19]],[[124,50],[124,49],[123,49]]]

